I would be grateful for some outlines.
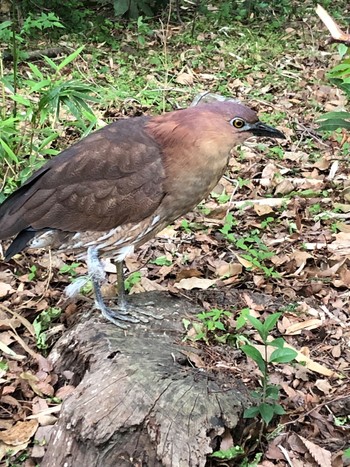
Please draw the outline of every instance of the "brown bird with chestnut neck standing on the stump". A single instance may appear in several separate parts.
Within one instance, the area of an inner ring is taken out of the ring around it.
[[[232,150],[251,136],[285,138],[251,108],[227,100],[117,120],[47,161],[0,205],[5,262],[51,248],[85,260],[95,307],[115,325],[128,311],[123,260],[205,199]],[[101,259],[117,267],[118,306],[102,297]]]

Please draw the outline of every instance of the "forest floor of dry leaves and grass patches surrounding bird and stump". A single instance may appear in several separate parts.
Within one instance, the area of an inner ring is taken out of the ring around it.
[[[228,360],[232,353],[225,346],[239,348],[244,339],[261,345],[249,324],[237,328],[245,309],[263,320],[281,312],[271,335],[282,336],[301,362],[269,367],[286,413],[265,428],[260,444],[245,445],[245,464],[221,465],[346,465],[350,137],[320,133],[315,122],[347,103],[327,79],[340,61],[337,46],[326,44],[327,31],[313,14],[278,31],[213,27],[194,39],[187,24],[148,28],[142,42],[140,31],[112,31],[117,48],[90,44],[70,65],[67,79],[78,70],[90,84],[115,92],[113,101],[94,108],[101,121],[184,107],[198,92],[210,91],[247,103],[287,138],[250,140],[239,148],[209,199],[127,258],[129,293],[169,291],[203,306],[206,321],[184,328],[187,343],[204,352],[201,365],[233,372],[252,390],[260,385],[258,367],[243,353]],[[11,63],[6,66],[10,72]],[[25,62],[20,68],[28,70]],[[67,120],[57,122],[57,131],[60,148],[77,139]],[[114,265],[107,271],[104,293],[113,296]],[[88,289],[74,303],[63,298],[64,288],[85,273],[73,256],[55,252],[27,252],[0,265],[3,465],[40,464],[44,446],[33,441],[38,427],[40,436],[49,431],[73,390],[68,383],[60,387],[48,355],[92,306]],[[213,309],[230,312],[218,315],[224,331],[210,329]],[[232,438],[226,445],[243,441]]]

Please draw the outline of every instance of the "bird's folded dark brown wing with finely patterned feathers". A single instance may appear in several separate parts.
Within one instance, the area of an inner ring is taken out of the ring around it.
[[[28,227],[106,231],[151,215],[164,168],[146,121],[108,125],[45,164],[0,206],[0,238]]]

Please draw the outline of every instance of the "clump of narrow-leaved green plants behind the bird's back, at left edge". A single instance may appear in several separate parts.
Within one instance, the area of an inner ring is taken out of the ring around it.
[[[81,51],[82,47],[58,64],[44,58],[50,68],[46,72],[29,63],[29,77],[19,80],[16,76],[21,91],[17,91],[17,84],[14,85],[14,79],[11,80],[10,76],[1,77],[1,85],[12,92],[9,98],[13,101],[12,113],[15,115],[6,115],[6,112],[11,111],[11,105],[5,101],[3,93],[3,118],[0,120],[0,163],[3,162],[3,167],[0,167],[0,172],[2,169],[6,174],[2,186],[4,194],[11,192],[18,182],[22,182],[45,162],[41,156],[57,154],[58,151],[50,145],[58,136],[54,127],[63,106],[76,119],[70,125],[79,127],[83,134],[95,127],[97,119],[87,102],[99,102],[93,95],[96,89],[79,80],[66,81],[64,76],[65,68]],[[27,156],[21,158],[21,153]]]

